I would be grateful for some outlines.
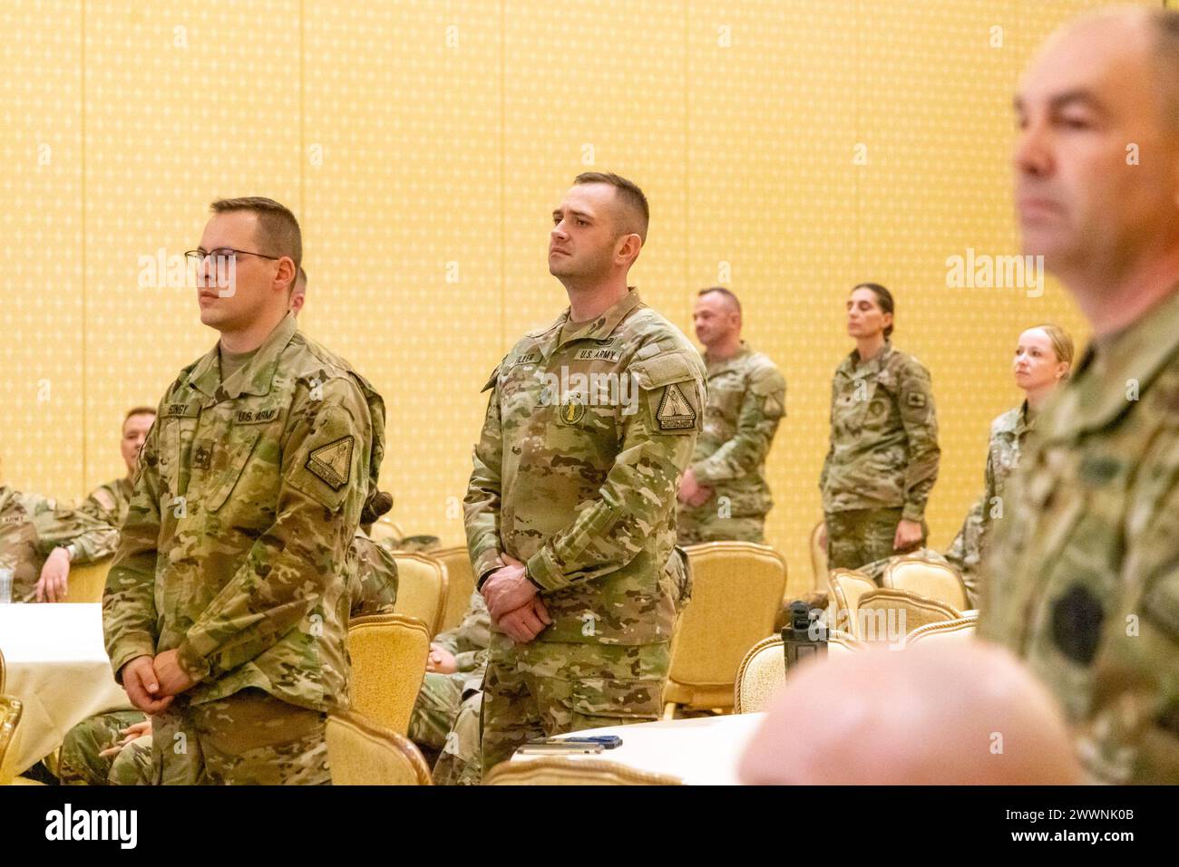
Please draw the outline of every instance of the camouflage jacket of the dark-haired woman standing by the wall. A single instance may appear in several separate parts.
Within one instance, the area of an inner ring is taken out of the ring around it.
[[[867,363],[852,350],[831,383],[823,511],[900,507],[922,521],[940,456],[929,371],[888,342]]]

